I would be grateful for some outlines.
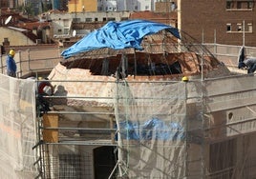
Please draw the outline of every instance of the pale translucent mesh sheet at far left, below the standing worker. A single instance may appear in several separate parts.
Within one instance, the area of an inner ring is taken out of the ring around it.
[[[34,82],[0,75],[0,178],[34,178]]]

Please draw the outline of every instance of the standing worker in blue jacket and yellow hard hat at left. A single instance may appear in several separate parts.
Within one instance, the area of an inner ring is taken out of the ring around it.
[[[15,51],[14,50],[10,50],[9,54],[7,55],[7,74],[11,77],[16,77],[16,70],[17,70],[17,66],[16,66],[16,62],[14,60],[14,56],[15,56]]]

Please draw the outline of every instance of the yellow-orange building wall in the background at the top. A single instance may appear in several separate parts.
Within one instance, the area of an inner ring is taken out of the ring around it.
[[[68,4],[69,12],[96,11],[96,0],[70,0]]]

